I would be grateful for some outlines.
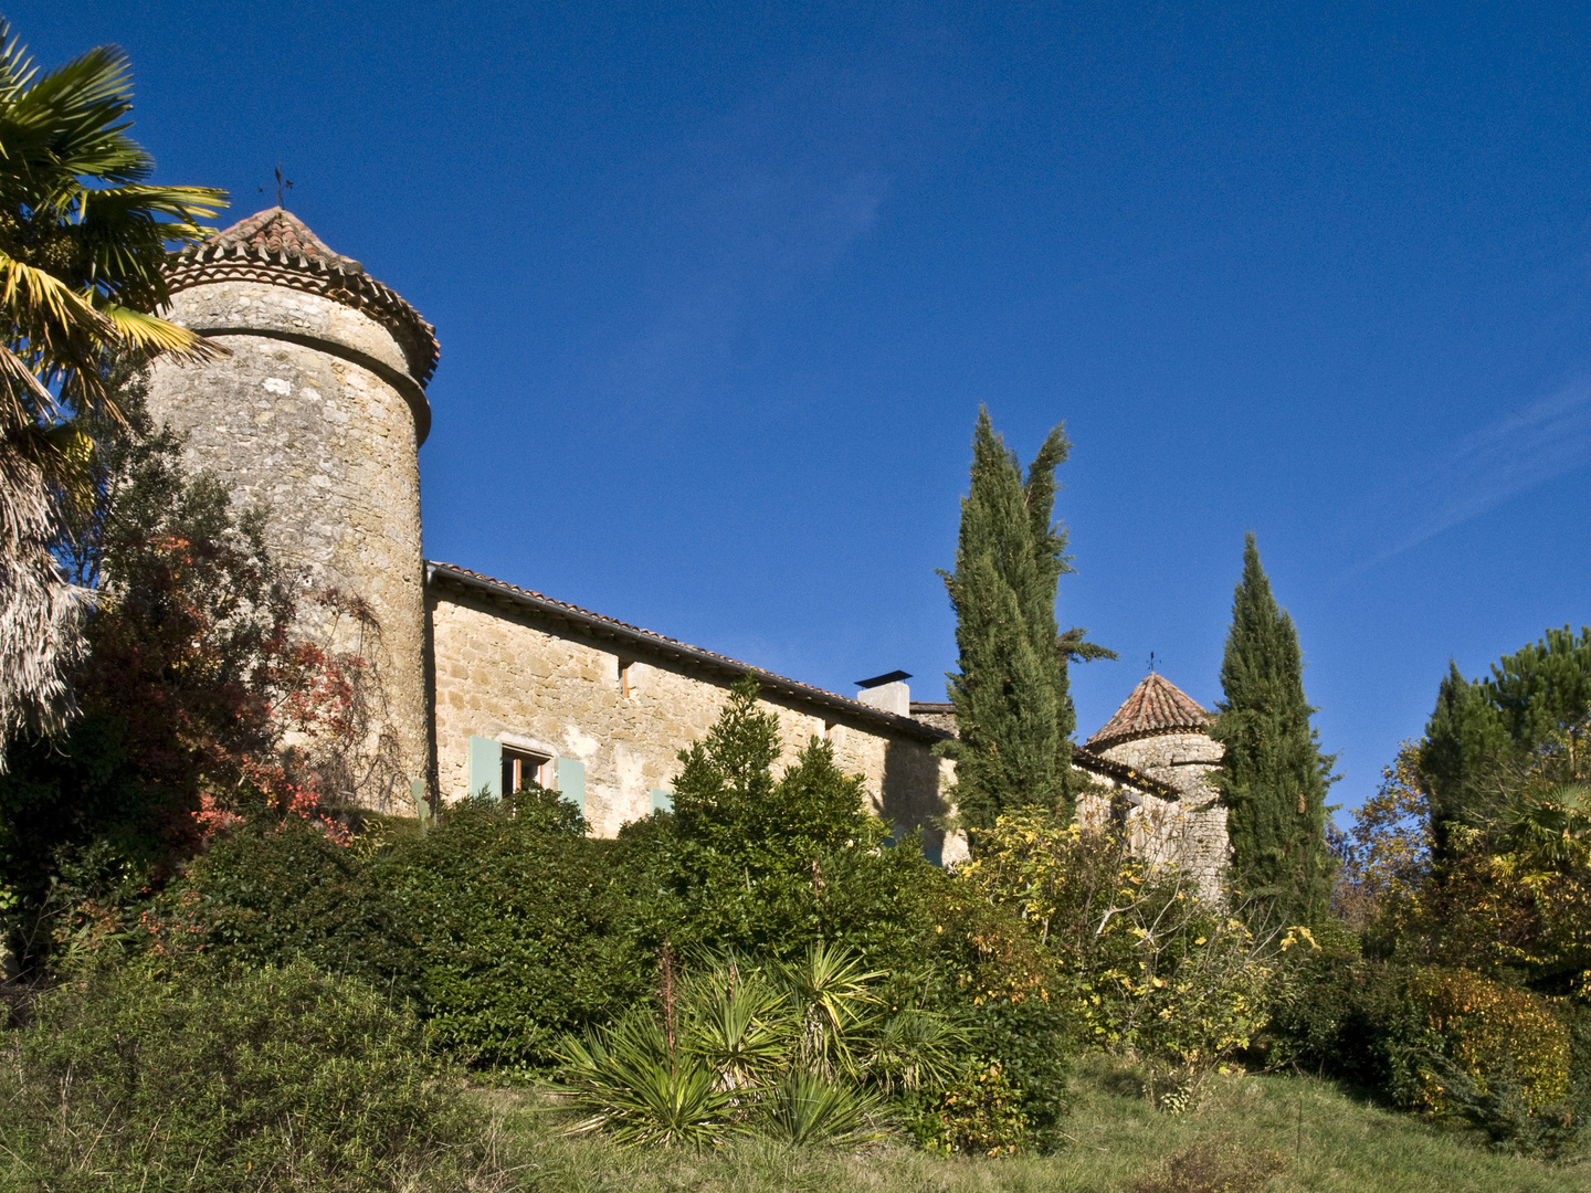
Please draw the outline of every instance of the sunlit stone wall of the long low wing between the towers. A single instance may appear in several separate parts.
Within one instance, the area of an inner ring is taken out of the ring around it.
[[[678,752],[718,721],[733,676],[633,643],[600,641],[539,617],[533,609],[433,585],[428,593],[436,690],[438,783],[444,800],[469,791],[469,738],[585,767],[585,818],[611,837],[651,811],[654,789],[671,791]],[[628,663],[627,676],[620,663]],[[850,701],[846,701],[850,703]],[[811,736],[834,743],[835,760],[862,776],[873,811],[902,826],[924,826],[929,851],[947,864],[966,849],[940,841],[928,826],[947,811],[953,764],[936,759],[923,735],[891,735],[854,714],[770,697],[789,765]]]

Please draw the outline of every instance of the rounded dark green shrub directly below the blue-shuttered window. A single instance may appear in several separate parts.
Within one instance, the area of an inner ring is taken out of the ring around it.
[[[611,856],[570,803],[533,787],[455,805],[375,861],[438,1042],[473,1064],[541,1067],[563,1032],[646,996],[652,959]]]

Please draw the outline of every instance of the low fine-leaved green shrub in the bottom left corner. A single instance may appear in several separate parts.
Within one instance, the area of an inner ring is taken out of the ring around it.
[[[307,962],[60,988],[6,1042],[0,1185],[442,1190],[485,1123],[414,1016]]]

